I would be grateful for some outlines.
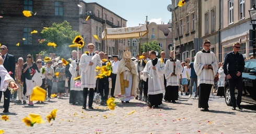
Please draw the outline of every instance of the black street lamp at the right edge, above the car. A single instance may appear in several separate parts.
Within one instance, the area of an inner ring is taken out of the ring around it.
[[[256,46],[255,46],[255,29],[256,29],[256,19],[253,18],[253,16],[256,15],[256,8],[255,5],[252,5],[252,9],[248,10],[249,11],[249,15],[250,15],[250,19],[251,19],[251,24],[252,24],[252,41],[253,41],[253,56],[255,57],[255,53],[256,53]],[[251,37],[251,36],[250,36]],[[250,38],[251,40],[251,38]]]

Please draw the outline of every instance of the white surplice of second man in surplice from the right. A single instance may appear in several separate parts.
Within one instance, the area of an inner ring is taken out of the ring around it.
[[[175,62],[175,75],[171,76],[174,72],[173,61],[167,60],[165,63],[165,78],[166,86],[179,86],[180,85],[180,74],[182,71],[182,66],[179,60]]]

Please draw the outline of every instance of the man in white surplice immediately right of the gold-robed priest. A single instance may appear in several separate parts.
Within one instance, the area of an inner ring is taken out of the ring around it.
[[[165,90],[164,73],[165,63],[164,60],[156,57],[154,50],[149,52],[149,60],[142,72],[144,77],[148,76],[148,106],[152,108],[159,108],[162,103],[162,93]]]

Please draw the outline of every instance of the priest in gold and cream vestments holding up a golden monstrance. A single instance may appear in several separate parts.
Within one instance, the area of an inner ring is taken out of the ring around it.
[[[123,59],[120,60],[118,65],[117,81],[115,82],[114,90],[114,95],[118,95],[118,98],[122,98],[121,101],[126,103],[129,103],[130,99],[134,99],[137,95],[137,72],[131,58],[131,52],[125,51]]]

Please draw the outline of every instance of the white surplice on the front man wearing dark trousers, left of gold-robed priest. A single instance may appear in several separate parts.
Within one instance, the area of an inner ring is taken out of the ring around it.
[[[94,62],[93,65],[89,65],[89,62]],[[81,72],[82,88],[95,88],[96,87],[96,66],[102,66],[100,62],[100,56],[96,53],[94,56],[88,56],[84,53],[79,61],[79,69]]]

